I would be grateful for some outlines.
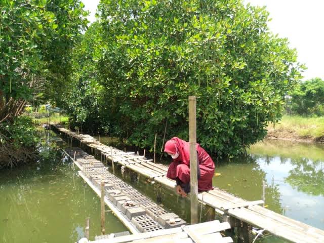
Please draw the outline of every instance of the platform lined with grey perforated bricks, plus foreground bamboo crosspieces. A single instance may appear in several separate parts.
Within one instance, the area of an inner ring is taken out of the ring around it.
[[[114,234],[96,236],[89,242],[202,242],[203,240],[218,239],[218,242],[231,243],[231,237],[223,237],[219,231],[230,228],[228,222],[201,223],[186,226],[186,222],[176,214],[165,211],[146,196],[139,193],[123,180],[107,171],[107,168],[94,156],[80,148],[65,149],[65,154],[73,161],[80,171],[78,174],[100,196],[101,182],[104,181],[105,204],[133,233],[114,237]],[[135,205],[128,206],[132,201]],[[174,222],[171,222],[174,219]],[[140,240],[140,241],[139,241]]]

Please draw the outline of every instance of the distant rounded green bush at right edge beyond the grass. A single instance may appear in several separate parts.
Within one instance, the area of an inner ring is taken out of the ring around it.
[[[291,93],[291,109],[300,115],[324,115],[324,80],[312,78]]]

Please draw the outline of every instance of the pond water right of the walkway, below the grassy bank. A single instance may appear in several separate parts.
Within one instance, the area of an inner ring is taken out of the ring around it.
[[[268,209],[324,229],[324,146],[265,140],[245,160],[217,166],[214,185]]]

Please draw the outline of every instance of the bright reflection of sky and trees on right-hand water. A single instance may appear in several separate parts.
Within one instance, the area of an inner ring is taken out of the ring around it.
[[[266,140],[250,149],[268,185],[278,189],[278,204],[269,208],[324,229],[324,146]]]

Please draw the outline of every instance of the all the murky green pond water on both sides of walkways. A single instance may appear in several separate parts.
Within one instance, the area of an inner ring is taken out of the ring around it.
[[[74,242],[84,235],[89,216],[90,238],[100,234],[99,198],[68,163],[61,163],[55,172],[58,160],[0,171],[0,242]],[[268,209],[324,229],[323,170],[324,146],[266,140],[252,146],[245,158],[217,163],[215,172],[220,175],[213,184],[258,200],[265,181]],[[121,177],[119,171],[117,175]],[[125,181],[189,221],[189,200],[144,177],[125,173]],[[106,214],[107,233],[125,230],[116,217]],[[285,241],[269,237],[258,242]]]

